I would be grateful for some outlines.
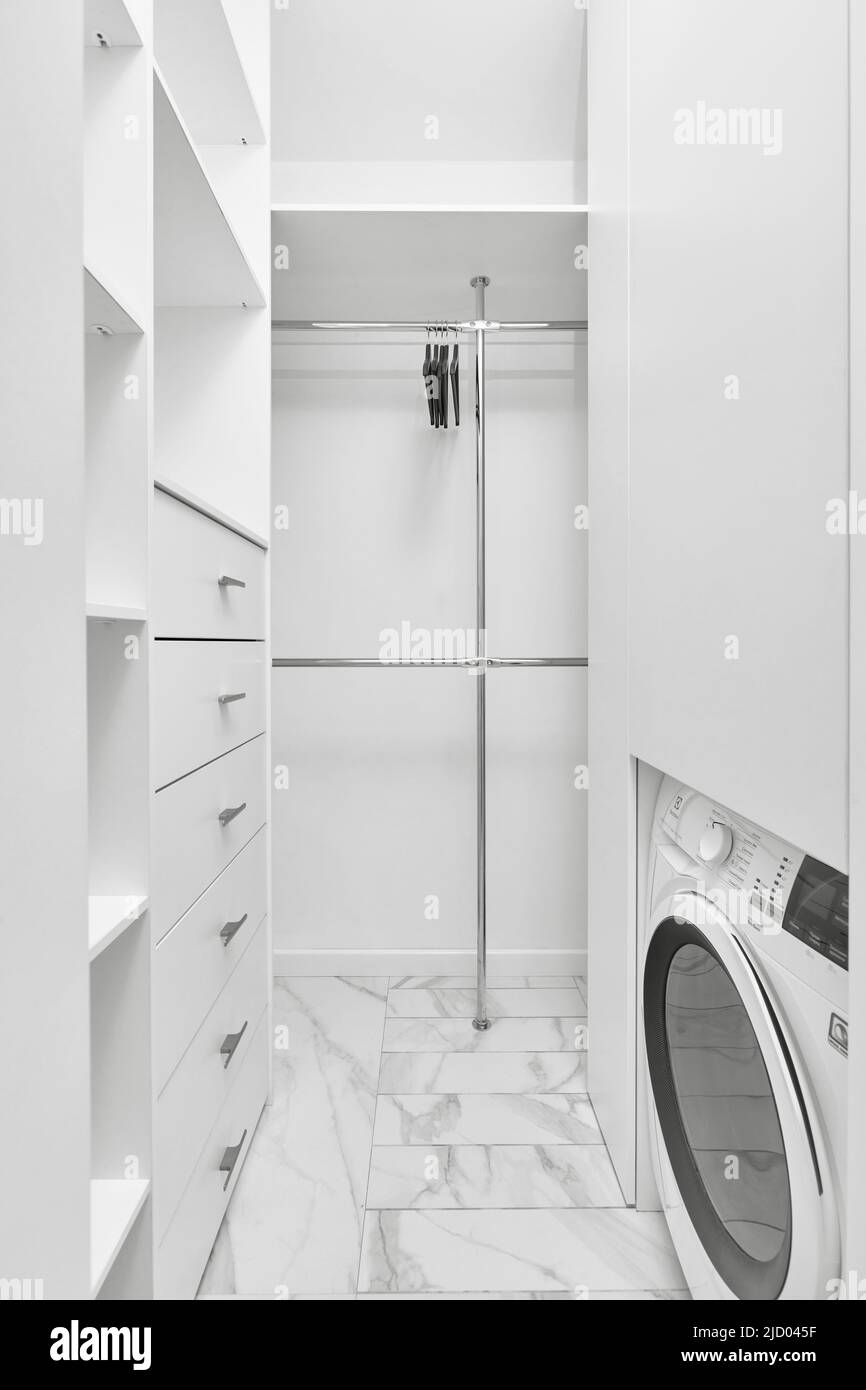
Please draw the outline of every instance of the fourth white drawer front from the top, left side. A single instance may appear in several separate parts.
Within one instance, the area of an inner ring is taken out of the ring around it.
[[[156,948],[153,1008],[158,1026],[154,1029],[153,1066],[157,1094],[228,983],[265,912],[267,828],[263,828]],[[242,926],[231,930],[239,922]]]

